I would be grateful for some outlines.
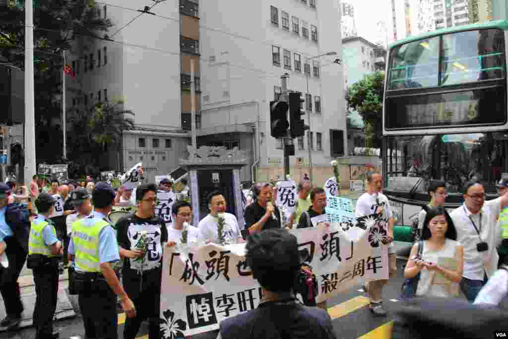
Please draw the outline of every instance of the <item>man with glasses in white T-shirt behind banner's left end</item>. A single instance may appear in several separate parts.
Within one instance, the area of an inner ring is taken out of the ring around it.
[[[190,225],[192,206],[187,201],[177,201],[172,206],[173,222],[168,227],[168,243],[200,242],[199,228]],[[185,236],[184,236],[184,232]]]

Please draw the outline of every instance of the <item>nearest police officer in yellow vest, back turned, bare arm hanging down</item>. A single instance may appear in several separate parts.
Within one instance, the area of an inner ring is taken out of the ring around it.
[[[126,316],[136,315],[112,268],[120,260],[115,233],[106,219],[114,199],[111,186],[99,182],[92,192],[94,212],[72,224],[69,261],[74,260],[74,285],[87,339],[118,337],[117,296]]]

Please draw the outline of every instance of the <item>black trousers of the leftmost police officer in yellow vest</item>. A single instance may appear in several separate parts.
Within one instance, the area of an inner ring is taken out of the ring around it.
[[[53,317],[58,302],[58,266],[53,264],[34,268],[35,309],[34,326],[37,339],[51,338]]]

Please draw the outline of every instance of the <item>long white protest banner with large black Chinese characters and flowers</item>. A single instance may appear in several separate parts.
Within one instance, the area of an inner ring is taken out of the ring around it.
[[[372,229],[377,230],[374,225]],[[388,279],[388,251],[370,230],[338,225],[291,230],[319,285],[317,302],[356,285]],[[377,234],[377,233],[376,233]],[[245,262],[245,243],[166,248],[162,272],[161,337],[215,330],[228,317],[255,309],[261,287]]]

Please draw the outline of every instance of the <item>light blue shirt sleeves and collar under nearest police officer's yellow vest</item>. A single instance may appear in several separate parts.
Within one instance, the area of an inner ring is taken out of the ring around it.
[[[93,218],[81,219],[84,223],[91,223],[92,220],[97,222],[97,219],[106,220],[104,214],[93,211]],[[74,243],[71,240],[69,241],[69,250],[68,253],[74,255]],[[99,262],[117,262],[120,260],[120,254],[118,252],[118,242],[116,241],[115,231],[111,226],[104,227],[99,233]],[[75,266],[76,271],[83,272],[78,266]]]

